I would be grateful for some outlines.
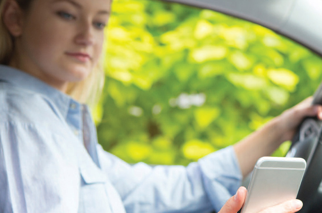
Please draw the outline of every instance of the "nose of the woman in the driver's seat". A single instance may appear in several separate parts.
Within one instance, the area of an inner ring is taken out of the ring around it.
[[[75,37],[75,43],[78,45],[89,46],[94,43],[93,27],[89,21],[79,23],[79,31]]]

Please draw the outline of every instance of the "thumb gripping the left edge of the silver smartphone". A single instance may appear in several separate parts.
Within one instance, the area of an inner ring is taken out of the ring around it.
[[[242,208],[245,202],[247,190],[245,187],[239,187],[236,194],[232,196],[218,213],[236,213]]]

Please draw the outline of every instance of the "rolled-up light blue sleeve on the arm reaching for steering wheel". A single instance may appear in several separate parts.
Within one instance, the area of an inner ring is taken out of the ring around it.
[[[232,146],[186,167],[130,165],[100,145],[98,155],[128,213],[219,211],[242,180]]]

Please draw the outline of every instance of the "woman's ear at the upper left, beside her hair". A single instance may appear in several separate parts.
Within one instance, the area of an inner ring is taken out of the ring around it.
[[[23,11],[15,0],[7,0],[3,8],[3,22],[14,37],[18,37],[23,29]]]

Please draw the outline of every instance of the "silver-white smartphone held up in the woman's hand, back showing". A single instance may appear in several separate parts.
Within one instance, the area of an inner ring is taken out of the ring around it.
[[[251,175],[241,213],[258,213],[296,199],[305,168],[303,158],[261,157]]]

